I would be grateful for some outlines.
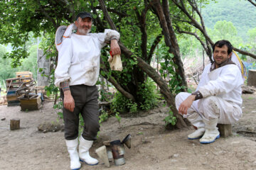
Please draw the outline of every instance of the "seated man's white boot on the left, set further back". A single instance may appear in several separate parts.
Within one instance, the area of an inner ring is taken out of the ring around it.
[[[194,112],[191,115],[188,115],[187,119],[189,122],[197,128],[197,130],[188,135],[188,140],[196,140],[203,136],[205,129],[205,124],[203,123],[203,119],[201,116]]]

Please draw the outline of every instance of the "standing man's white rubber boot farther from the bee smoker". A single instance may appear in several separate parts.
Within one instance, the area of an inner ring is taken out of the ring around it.
[[[81,163],[78,156],[78,138],[75,140],[65,140],[70,154],[70,169],[78,170],[81,168]]]

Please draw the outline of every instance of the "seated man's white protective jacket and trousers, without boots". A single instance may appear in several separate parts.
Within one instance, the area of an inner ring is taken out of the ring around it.
[[[218,118],[218,123],[233,124],[242,116],[242,89],[243,84],[240,69],[235,64],[227,64],[210,72],[211,64],[203,70],[201,81],[196,91],[200,91],[203,98],[193,101],[188,114],[192,125],[204,127],[204,120]],[[176,96],[176,108],[191,94],[182,92]],[[200,116],[197,116],[197,115]]]

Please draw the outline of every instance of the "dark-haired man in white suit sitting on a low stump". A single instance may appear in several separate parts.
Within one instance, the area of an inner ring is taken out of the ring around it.
[[[228,40],[215,42],[214,62],[203,70],[196,92],[176,96],[178,113],[196,127],[188,135],[189,140],[201,138],[202,144],[212,143],[220,137],[218,123],[233,124],[242,116],[243,79],[240,69],[231,61],[232,50]]]

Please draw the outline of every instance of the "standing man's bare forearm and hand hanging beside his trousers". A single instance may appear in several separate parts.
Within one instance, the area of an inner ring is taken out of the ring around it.
[[[64,108],[73,112],[74,108],[75,108],[75,101],[74,101],[73,96],[71,95],[70,86],[69,86],[68,81],[61,82],[60,87],[63,90],[63,94],[64,94],[64,99],[63,99]]]

